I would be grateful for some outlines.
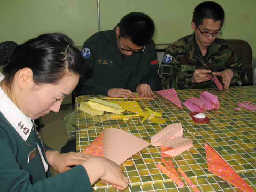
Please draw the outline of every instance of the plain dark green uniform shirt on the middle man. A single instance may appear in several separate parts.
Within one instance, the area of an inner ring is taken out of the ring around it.
[[[95,33],[84,42],[82,55],[87,69],[75,91],[83,95],[107,95],[111,88],[135,92],[144,83],[156,91],[159,64],[154,41],[146,45],[144,53],[121,55],[115,31],[116,27]]]

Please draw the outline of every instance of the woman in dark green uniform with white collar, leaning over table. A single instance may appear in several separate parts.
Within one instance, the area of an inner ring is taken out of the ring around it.
[[[106,158],[53,151],[42,143],[34,119],[58,112],[84,73],[83,58],[61,33],[22,45],[0,44],[1,191],[92,191],[98,179],[124,190],[128,179]],[[48,166],[61,174],[51,177]],[[69,166],[77,165],[72,169]]]

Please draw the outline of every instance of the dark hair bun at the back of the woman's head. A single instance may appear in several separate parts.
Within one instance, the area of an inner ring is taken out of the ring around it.
[[[5,41],[0,44],[0,66],[7,65],[10,62],[17,46],[18,44],[14,41]]]

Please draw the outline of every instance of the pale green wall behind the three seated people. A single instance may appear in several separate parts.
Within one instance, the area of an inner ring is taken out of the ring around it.
[[[191,34],[192,12],[203,0],[100,0],[101,30],[113,29],[129,12],[155,22],[155,43]],[[215,0],[225,10],[224,39],[247,41],[256,57],[256,1]],[[63,32],[76,46],[98,31],[97,0],[0,0],[0,42],[23,41],[46,32]]]

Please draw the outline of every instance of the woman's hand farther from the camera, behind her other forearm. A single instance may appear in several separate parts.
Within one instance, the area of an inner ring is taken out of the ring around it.
[[[90,154],[82,152],[59,153],[58,151],[53,150],[46,151],[46,159],[49,165],[59,173],[71,169],[69,166],[81,164],[90,157]]]

